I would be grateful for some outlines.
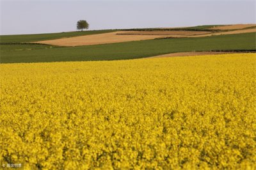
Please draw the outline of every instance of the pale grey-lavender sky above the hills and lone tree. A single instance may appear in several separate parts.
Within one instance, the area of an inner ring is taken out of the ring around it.
[[[89,30],[255,24],[254,0],[0,0],[0,34],[76,31],[77,20]]]

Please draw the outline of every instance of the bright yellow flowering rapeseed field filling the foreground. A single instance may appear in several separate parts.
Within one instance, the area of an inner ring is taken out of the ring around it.
[[[256,54],[1,64],[0,75],[0,166],[256,169]]]

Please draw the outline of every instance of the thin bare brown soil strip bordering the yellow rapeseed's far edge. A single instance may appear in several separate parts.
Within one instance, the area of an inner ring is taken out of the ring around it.
[[[216,54],[228,54],[228,53],[238,53],[238,52],[214,52],[214,51],[204,51],[204,52],[175,52],[170,54],[163,54],[159,56],[152,56],[149,58],[171,58],[171,57],[183,57],[183,56],[204,56],[204,55],[216,55]]]

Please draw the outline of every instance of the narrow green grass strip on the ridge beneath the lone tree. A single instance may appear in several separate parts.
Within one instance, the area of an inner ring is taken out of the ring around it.
[[[97,30],[97,31],[73,31],[73,32],[63,32],[63,33],[49,33],[49,34],[36,34],[36,35],[1,35],[1,43],[17,43],[17,42],[38,42],[44,40],[53,40],[57,38],[67,38],[73,36],[81,35],[95,35],[102,33],[110,33],[113,31],[118,31],[115,29],[111,30]]]

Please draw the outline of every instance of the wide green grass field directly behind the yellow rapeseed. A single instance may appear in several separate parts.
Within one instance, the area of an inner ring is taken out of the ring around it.
[[[255,50],[255,36],[256,33],[245,33],[201,38],[166,38],[79,47],[28,44],[1,45],[0,62],[99,61],[145,58],[159,54],[194,50]]]

